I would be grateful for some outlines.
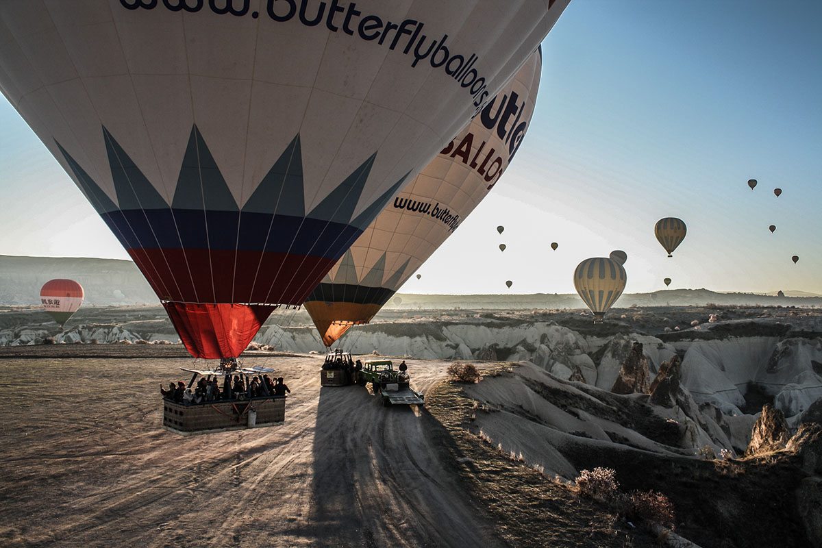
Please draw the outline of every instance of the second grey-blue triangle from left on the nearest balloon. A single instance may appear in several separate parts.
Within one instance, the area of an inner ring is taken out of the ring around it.
[[[168,208],[169,204],[163,196],[159,195],[157,189],[145,178],[140,168],[137,168],[105,126],[103,136],[120,209],[160,210]]]

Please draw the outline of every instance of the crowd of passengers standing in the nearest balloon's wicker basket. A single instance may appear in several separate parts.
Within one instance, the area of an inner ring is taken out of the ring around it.
[[[183,405],[291,394],[288,385],[283,382],[283,377],[272,382],[268,375],[255,375],[248,385],[242,375],[224,375],[222,389],[216,375],[209,375],[207,378],[200,377],[193,390],[186,388],[186,384],[180,380],[176,385],[169,383],[169,389],[164,389],[163,385],[160,385],[159,392],[163,394],[163,398]]]

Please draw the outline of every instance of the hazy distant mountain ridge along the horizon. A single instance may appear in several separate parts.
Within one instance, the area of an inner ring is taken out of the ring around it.
[[[145,278],[131,260],[85,257],[27,257],[0,255],[0,306],[38,305],[40,288],[54,278],[68,278],[85,289],[86,306],[159,304]],[[584,308],[576,293],[531,295],[421,295],[398,293],[402,304],[386,308]],[[654,297],[655,296],[655,297]],[[714,292],[709,289],[665,289],[653,293],[626,293],[617,308],[636,306],[822,306],[822,296],[786,291],[785,297],[757,293]]]

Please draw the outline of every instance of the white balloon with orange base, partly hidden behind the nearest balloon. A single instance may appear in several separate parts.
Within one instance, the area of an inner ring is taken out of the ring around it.
[[[541,57],[533,53],[307,298],[306,310],[324,343],[330,346],[352,325],[370,321],[496,184],[528,128]]]

